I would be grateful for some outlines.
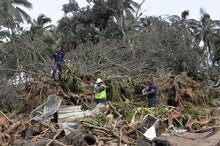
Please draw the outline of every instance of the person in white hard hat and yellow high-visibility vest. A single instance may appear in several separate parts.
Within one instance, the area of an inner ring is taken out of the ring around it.
[[[106,87],[103,84],[102,79],[98,78],[96,81],[96,84],[94,86],[94,102],[96,104],[102,103],[105,104],[106,103]]]

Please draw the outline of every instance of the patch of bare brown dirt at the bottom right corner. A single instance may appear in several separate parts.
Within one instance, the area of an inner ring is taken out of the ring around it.
[[[217,131],[211,137],[202,138],[206,136],[205,133],[184,133],[180,136],[163,136],[163,139],[170,141],[172,146],[220,146],[220,131]]]

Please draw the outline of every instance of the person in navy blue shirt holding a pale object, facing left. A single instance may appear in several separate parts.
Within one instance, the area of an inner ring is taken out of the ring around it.
[[[148,95],[148,107],[156,107],[157,105],[157,94],[156,94],[156,85],[153,82],[153,78],[149,78],[148,88],[143,90],[144,95]]]

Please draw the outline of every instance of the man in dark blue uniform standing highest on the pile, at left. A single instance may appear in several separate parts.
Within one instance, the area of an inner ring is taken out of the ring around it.
[[[56,52],[53,54],[53,62],[52,62],[53,65],[52,78],[54,80],[57,70],[59,72],[59,80],[61,80],[63,63],[65,63],[64,52],[62,51],[60,46],[57,46]]]

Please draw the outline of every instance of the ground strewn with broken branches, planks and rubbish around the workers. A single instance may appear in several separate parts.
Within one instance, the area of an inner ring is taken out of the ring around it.
[[[92,102],[91,82],[97,77],[107,86],[105,106]],[[167,107],[168,77],[155,77],[159,103],[147,108],[147,98],[141,95],[145,80],[100,72],[83,74],[65,67],[62,82],[47,77],[29,82],[22,92],[25,106],[0,113],[0,145],[141,145],[143,134],[155,123],[156,137],[173,145],[179,145],[179,139],[197,144],[219,136],[219,97],[213,93],[217,89],[179,74],[181,104]],[[187,133],[201,136],[194,139]]]

